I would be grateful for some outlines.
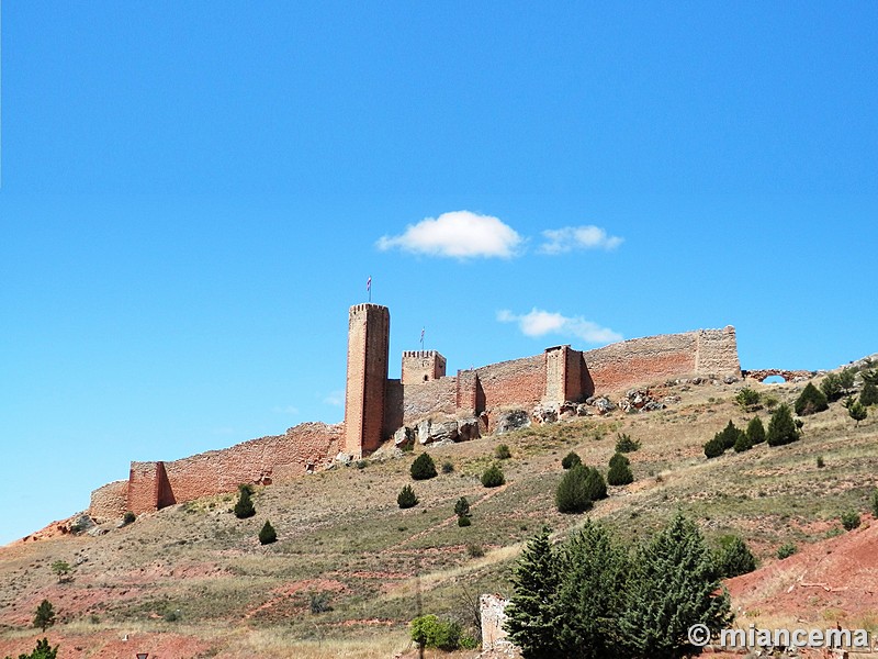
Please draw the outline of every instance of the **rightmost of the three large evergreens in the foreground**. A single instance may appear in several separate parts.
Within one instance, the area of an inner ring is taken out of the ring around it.
[[[710,549],[680,513],[637,552],[629,584],[619,628],[631,659],[677,659],[700,651],[689,645],[691,625],[717,632],[731,622],[729,594],[720,591]]]

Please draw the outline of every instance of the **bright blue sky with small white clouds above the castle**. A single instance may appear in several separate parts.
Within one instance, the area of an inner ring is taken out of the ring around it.
[[[2,3],[0,543],[391,375],[878,350],[874,2]]]

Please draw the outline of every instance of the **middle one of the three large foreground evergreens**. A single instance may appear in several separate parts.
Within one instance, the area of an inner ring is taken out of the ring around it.
[[[564,657],[614,659],[619,648],[618,619],[626,607],[630,560],[601,524],[586,520],[566,544],[561,560],[559,630]]]

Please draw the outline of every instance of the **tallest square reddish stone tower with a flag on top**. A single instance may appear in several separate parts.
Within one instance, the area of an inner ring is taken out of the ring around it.
[[[348,321],[345,453],[361,457],[383,439],[391,314],[380,304],[356,304]]]

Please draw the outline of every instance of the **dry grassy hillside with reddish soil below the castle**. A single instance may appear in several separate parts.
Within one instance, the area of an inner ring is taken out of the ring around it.
[[[769,403],[789,402],[802,387],[751,386]],[[509,593],[518,550],[538,528],[575,528],[583,516],[554,509],[561,459],[576,450],[606,472],[620,432],[642,443],[629,455],[635,481],[610,488],[593,516],[635,540],[679,509],[708,536],[742,535],[769,563],[781,544],[823,539],[838,533],[843,511],[867,509],[878,484],[878,421],[873,409],[855,427],[834,403],[804,420],[799,443],[707,460],[707,439],[729,420],[744,427],[753,416],[734,403],[741,387],[658,386],[653,395],[678,402],[429,449],[440,470],[429,481],[408,476],[424,450],[416,448],[257,489],[250,520],[232,514],[232,495],[215,496],[97,537],[0,549],[0,656],[33,647],[27,626],[43,599],[58,612],[47,635],[61,657],[133,656],[135,643],[161,657],[393,656],[408,648],[417,611],[468,623],[479,593]],[[758,414],[767,425],[769,412]],[[500,462],[506,485],[488,490],[480,476],[499,443],[513,454]],[[453,471],[442,473],[444,462]],[[399,510],[406,483],[420,503]],[[465,528],[453,514],[460,496],[472,506]],[[266,520],[279,540],[262,547]],[[71,581],[58,583],[56,560],[75,566]]]

